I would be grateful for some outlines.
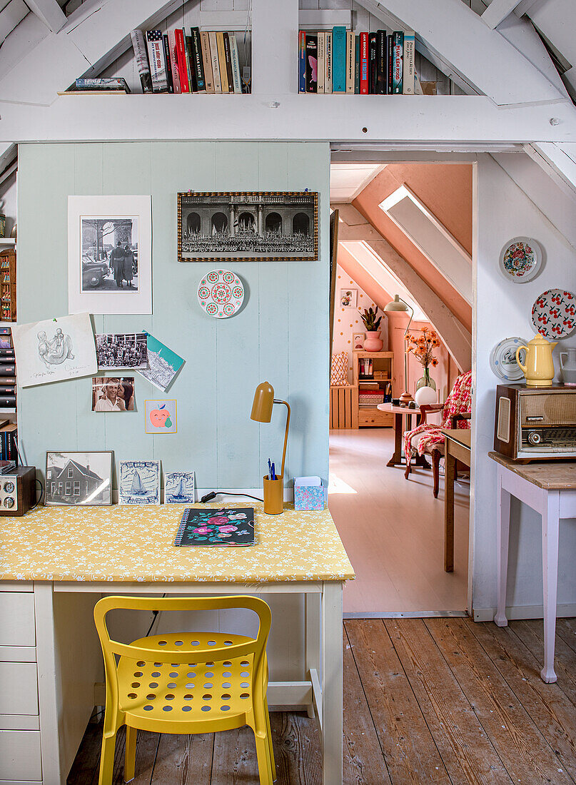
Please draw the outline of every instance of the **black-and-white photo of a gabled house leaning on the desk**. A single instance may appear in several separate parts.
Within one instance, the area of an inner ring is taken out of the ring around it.
[[[46,505],[112,503],[111,452],[46,453]]]

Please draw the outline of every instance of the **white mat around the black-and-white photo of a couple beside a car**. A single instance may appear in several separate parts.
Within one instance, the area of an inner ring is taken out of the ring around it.
[[[83,292],[82,217],[137,218],[138,290]],[[68,312],[152,312],[152,197],[68,196]]]

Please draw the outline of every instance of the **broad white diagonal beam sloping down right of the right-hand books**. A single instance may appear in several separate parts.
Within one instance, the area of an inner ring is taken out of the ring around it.
[[[482,93],[498,106],[567,100],[523,53],[490,30],[461,0],[357,2],[388,29],[416,31],[417,49],[450,79],[468,85],[467,92]]]

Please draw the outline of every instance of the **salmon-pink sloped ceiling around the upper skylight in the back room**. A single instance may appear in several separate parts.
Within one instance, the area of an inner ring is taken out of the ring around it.
[[[472,308],[443,275],[396,226],[378,204],[406,184],[438,220],[472,253],[472,166],[470,164],[392,163],[386,166],[352,203],[388,240],[410,267],[447,305],[454,317],[472,331]],[[472,268],[470,271],[472,275]]]

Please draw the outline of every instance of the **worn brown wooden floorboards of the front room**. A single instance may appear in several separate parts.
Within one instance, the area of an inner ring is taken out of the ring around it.
[[[576,620],[559,619],[559,681],[540,678],[542,623],[349,619],[344,634],[344,785],[576,785]],[[272,713],[278,785],[321,785],[316,721]],[[97,785],[102,718],[67,785]],[[113,785],[123,782],[124,730]],[[257,785],[250,728],[138,732],[134,785]],[[331,785],[331,783],[330,783]],[[336,783],[334,783],[336,785]]]

